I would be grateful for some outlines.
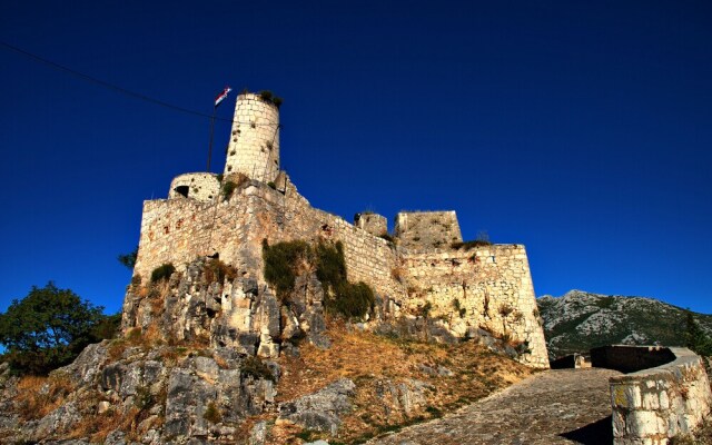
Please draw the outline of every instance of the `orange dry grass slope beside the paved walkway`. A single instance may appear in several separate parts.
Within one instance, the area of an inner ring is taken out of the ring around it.
[[[285,372],[278,385],[277,402],[314,393],[342,377],[350,378],[356,383],[355,409],[343,418],[339,431],[339,441],[346,443],[398,425],[438,417],[443,412],[485,397],[532,373],[525,366],[487,353],[471,342],[455,346],[404,342],[348,332],[336,323],[329,323],[328,333],[333,340],[330,349],[304,345],[300,357],[280,358]],[[454,375],[431,376],[419,370],[419,365],[434,369],[444,366]],[[433,389],[424,393],[426,405],[409,415],[390,405],[386,415],[384,408],[388,403],[377,395],[377,383],[407,384],[409,379],[432,386]],[[275,427],[276,434],[280,432],[278,426]],[[280,439],[284,443],[284,435]]]

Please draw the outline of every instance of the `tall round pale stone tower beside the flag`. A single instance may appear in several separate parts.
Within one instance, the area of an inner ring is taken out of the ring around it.
[[[264,93],[237,97],[225,176],[236,172],[264,182],[279,172],[279,109]]]

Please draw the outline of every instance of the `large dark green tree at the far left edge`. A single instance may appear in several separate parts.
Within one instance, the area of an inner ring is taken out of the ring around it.
[[[118,318],[107,317],[102,310],[51,281],[41,288],[33,286],[24,298],[14,299],[0,314],[0,344],[16,370],[46,374],[111,332]]]

